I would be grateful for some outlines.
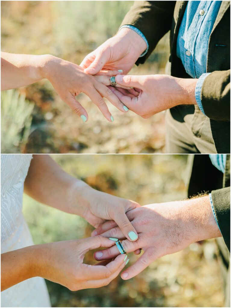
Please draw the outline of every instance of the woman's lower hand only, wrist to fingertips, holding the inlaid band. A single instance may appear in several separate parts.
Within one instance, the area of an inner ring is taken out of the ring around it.
[[[83,261],[89,250],[114,244],[106,237],[97,236],[37,245],[33,264],[35,275],[57,282],[71,291],[106,286],[124,268],[125,256],[97,265],[88,265]]]

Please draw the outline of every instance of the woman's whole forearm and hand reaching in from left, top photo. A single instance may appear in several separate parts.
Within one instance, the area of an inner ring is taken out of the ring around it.
[[[24,87],[41,79],[48,79],[60,98],[84,122],[88,120],[87,111],[76,100],[76,96],[81,92],[89,96],[109,122],[113,122],[113,117],[103,97],[120,111],[127,112],[118,97],[106,87],[111,84],[109,76],[119,74],[118,70],[102,71],[97,79],[86,74],[82,67],[52,55],[18,55],[2,52],[1,74],[1,90]]]

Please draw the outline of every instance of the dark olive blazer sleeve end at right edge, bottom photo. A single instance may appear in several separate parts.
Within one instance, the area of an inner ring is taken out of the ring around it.
[[[230,187],[212,190],[211,195],[217,223],[230,251]]]

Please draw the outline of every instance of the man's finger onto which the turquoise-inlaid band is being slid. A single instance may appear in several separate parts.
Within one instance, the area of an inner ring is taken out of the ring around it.
[[[140,236],[140,234],[139,234],[139,236]],[[125,249],[125,251],[127,253],[139,249],[142,246],[140,243],[141,243],[140,237],[135,242],[131,242],[129,240],[122,241],[122,245],[123,245],[123,247],[124,247],[124,249]],[[94,253],[94,258],[97,261],[107,260],[107,259],[111,259],[111,258],[113,258],[115,256],[118,256],[119,254],[120,254],[120,252],[119,252],[117,246],[113,245],[112,247],[110,247],[108,249],[104,249],[104,250],[95,252]]]

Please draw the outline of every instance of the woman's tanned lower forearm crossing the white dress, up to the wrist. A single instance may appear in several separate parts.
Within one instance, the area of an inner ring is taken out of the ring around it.
[[[1,291],[36,276],[34,251],[28,246],[1,254]]]

